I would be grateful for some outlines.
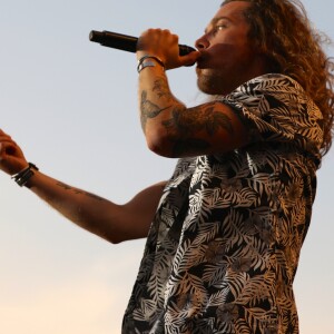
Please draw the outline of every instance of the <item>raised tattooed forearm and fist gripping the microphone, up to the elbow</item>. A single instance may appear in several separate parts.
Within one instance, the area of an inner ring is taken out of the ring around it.
[[[148,29],[138,39],[139,110],[148,147],[165,157],[175,155],[179,130],[175,117],[187,110],[171,94],[165,70],[194,65],[199,58],[194,51],[179,56],[178,37],[168,30]]]

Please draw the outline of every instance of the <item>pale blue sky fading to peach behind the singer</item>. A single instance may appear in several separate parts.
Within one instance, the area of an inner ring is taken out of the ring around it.
[[[334,39],[332,0],[303,1]],[[174,159],[146,147],[134,53],[90,30],[166,28],[194,46],[220,1],[11,0],[0,4],[0,128],[42,173],[115,203],[167,179]],[[330,48],[328,55],[333,56]],[[168,72],[188,106],[204,101],[194,68]],[[333,333],[334,149],[318,170],[295,295],[302,334]],[[0,174],[0,333],[118,334],[145,240],[111,245]]]

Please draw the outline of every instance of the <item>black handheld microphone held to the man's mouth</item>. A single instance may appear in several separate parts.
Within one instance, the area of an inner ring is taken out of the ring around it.
[[[137,51],[137,37],[111,32],[111,31],[96,31],[91,30],[89,33],[89,40],[98,42],[104,47],[114,48],[122,51],[136,52]],[[194,48],[179,45],[179,56],[186,56],[193,51]]]

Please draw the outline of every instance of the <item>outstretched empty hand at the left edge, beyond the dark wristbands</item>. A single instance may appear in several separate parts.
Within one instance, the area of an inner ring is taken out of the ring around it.
[[[13,175],[28,166],[21,148],[0,129],[0,169]]]

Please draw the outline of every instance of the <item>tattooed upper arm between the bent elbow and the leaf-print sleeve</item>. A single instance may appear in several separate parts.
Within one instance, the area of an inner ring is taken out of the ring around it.
[[[167,157],[222,154],[246,145],[247,138],[243,116],[219,101],[170,107],[146,131],[149,148]]]

